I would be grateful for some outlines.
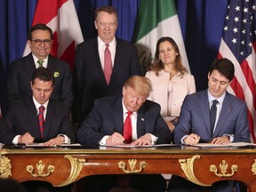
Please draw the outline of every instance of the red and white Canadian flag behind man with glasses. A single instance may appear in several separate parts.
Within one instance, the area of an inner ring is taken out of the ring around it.
[[[74,68],[76,45],[84,41],[73,0],[38,0],[32,26],[44,23],[53,32],[51,54]],[[23,55],[31,52],[28,44]]]

